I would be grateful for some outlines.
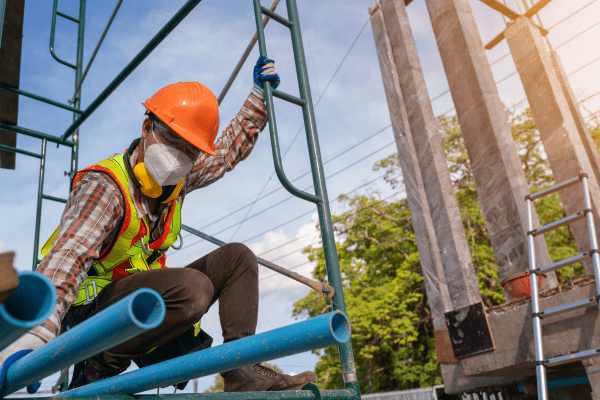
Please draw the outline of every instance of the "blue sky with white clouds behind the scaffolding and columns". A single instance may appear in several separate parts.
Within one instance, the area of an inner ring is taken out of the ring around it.
[[[316,101],[322,96],[315,114],[323,160],[337,156],[325,164],[325,173],[329,177],[327,187],[330,200],[333,201],[342,193],[367,191],[387,198],[393,193],[381,179],[377,179],[381,174],[374,172],[372,166],[376,160],[394,152],[395,146],[390,128],[375,134],[389,126],[390,121],[370,24],[366,25],[357,39],[369,18],[368,7],[371,6],[371,1],[297,1],[313,99]],[[76,16],[77,3],[72,0],[59,1],[59,10]],[[88,2],[85,65],[116,3],[116,0]],[[184,3],[183,0],[123,2],[83,84],[84,108]],[[556,47],[593,26],[558,48],[567,73],[576,71],[570,76],[570,81],[579,99],[600,91],[600,62],[577,71],[600,57],[600,27],[594,26],[597,23],[597,15],[600,15],[600,2],[554,0],[540,13],[544,26],[550,27],[588,3],[591,4],[584,11],[550,29],[548,36],[552,45]],[[522,0],[507,1],[507,5],[518,12],[522,9],[522,4]],[[269,6],[270,2],[263,1],[263,5]],[[483,42],[487,43],[504,29],[505,22],[500,14],[479,1],[472,0],[471,5]],[[54,61],[49,54],[51,11],[51,3],[48,1],[26,1],[21,88],[66,102],[73,94],[74,74],[69,68]],[[278,12],[286,15],[284,0]],[[448,90],[448,84],[424,0],[413,1],[408,7],[408,13],[427,89],[430,97],[436,98]],[[82,125],[80,168],[113,153],[122,152],[138,137],[144,112],[141,103],[161,87],[178,81],[195,80],[204,83],[218,94],[254,30],[251,1],[202,1]],[[281,75],[282,83],[279,89],[297,95],[291,41],[287,29],[270,22],[266,35],[268,54],[276,60]],[[356,44],[340,67],[355,39]],[[75,44],[76,25],[59,18],[56,53],[73,62]],[[515,71],[512,58],[502,58],[507,53],[508,46],[505,41],[487,52],[491,63],[501,59],[492,66],[497,81]],[[251,70],[257,57],[258,51],[255,49],[222,103],[221,128],[229,123],[248,95],[252,86]],[[331,80],[338,67],[339,71]],[[501,81],[498,90],[507,106],[525,98],[518,74]],[[286,174],[291,179],[301,176],[294,184],[310,191],[310,176],[302,176],[309,169],[303,132],[290,147],[302,126],[300,110],[278,100],[275,104],[282,151],[286,152],[288,147],[290,148],[284,159]],[[519,105],[524,107],[526,102]],[[600,96],[591,98],[584,105],[591,112],[599,110]],[[68,111],[24,97],[20,98],[19,106],[19,125],[29,129],[58,136],[72,121],[72,115]],[[449,113],[453,113],[451,96],[448,93],[442,95],[433,102],[433,108],[436,114],[448,110],[451,110]],[[587,115],[587,111],[584,111],[584,115]],[[370,138],[367,139],[368,137]],[[361,141],[363,142],[360,145],[354,146]],[[19,148],[39,152],[40,146],[41,142],[37,139],[19,136]],[[348,151],[340,154],[345,150]],[[63,172],[69,167],[69,158],[68,149],[57,149],[55,145],[48,145],[45,194],[62,198],[67,196],[68,179]],[[0,204],[4,210],[0,215],[3,227],[0,231],[0,251],[15,251],[16,267],[19,270],[31,268],[38,171],[39,161],[22,155],[17,156],[16,171],[0,170],[4,188],[0,192]],[[315,233],[316,210],[314,206],[302,200],[287,199],[290,195],[280,188],[272,173],[270,140],[265,131],[252,155],[236,170],[221,181],[187,198],[183,209],[184,222],[224,241],[246,243],[261,257],[274,260],[282,266],[292,268],[300,265],[297,271],[309,275],[312,265],[307,263],[306,256],[297,250],[318,240]],[[370,181],[374,181],[370,189],[361,187]],[[246,207],[228,215],[244,205],[251,204],[261,192],[263,196],[273,193],[256,202],[251,208]],[[333,202],[331,208],[334,213],[344,209],[339,202]],[[58,224],[61,211],[61,204],[44,201],[42,241]],[[264,212],[260,213],[261,211]],[[251,218],[241,226],[236,225],[247,214]],[[252,217],[253,214],[258,215]],[[298,217],[303,214],[304,216]],[[290,220],[293,221],[288,222]],[[300,239],[282,246],[297,238]],[[169,265],[184,266],[214,249],[211,244],[196,242],[198,240],[194,237],[184,235],[184,249],[170,255]],[[293,302],[308,292],[295,282],[279,276],[270,277],[272,274],[269,270],[261,270],[259,331],[292,323]],[[215,337],[215,342],[219,343],[222,338],[216,311],[216,307],[211,309],[203,319],[203,327]],[[304,354],[275,362],[283,367],[284,372],[294,373],[313,369],[316,360],[314,355]],[[208,387],[211,382],[212,378],[202,378],[200,390]]]

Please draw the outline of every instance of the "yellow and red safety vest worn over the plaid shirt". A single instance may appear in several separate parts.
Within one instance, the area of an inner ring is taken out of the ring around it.
[[[171,201],[169,211],[165,213],[164,232],[160,238],[150,242],[150,223],[148,216],[138,218],[136,208],[129,193],[129,174],[125,167],[123,154],[119,154],[100,161],[85,168],[75,175],[73,185],[81,177],[89,172],[97,171],[108,174],[118,184],[125,198],[125,217],[120,231],[112,244],[102,251],[100,257],[94,260],[93,268],[98,276],[90,276],[79,288],[79,295],[74,306],[90,303],[109,283],[125,278],[132,274],[149,269],[165,268],[166,255],[161,254],[154,262],[148,265],[148,259],[155,252],[166,252],[177,240],[181,231],[181,203],[175,199]],[[52,236],[42,247],[42,257],[45,257],[52,249],[59,228],[56,228]],[[144,248],[146,251],[144,251]],[[149,254],[146,254],[149,253]],[[156,257],[156,255],[154,256]]]

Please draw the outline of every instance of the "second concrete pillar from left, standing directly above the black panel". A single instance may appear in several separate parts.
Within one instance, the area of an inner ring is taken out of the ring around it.
[[[481,302],[479,284],[450,180],[442,137],[425,85],[417,46],[400,0],[382,0],[392,57],[454,310]]]

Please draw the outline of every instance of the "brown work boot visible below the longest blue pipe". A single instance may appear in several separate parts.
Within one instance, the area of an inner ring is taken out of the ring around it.
[[[297,390],[317,380],[317,376],[310,371],[291,376],[280,374],[260,364],[222,372],[221,376],[226,392]]]

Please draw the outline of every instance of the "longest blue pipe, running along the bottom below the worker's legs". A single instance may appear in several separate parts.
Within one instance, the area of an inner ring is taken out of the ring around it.
[[[91,383],[58,396],[138,393],[348,340],[350,322],[345,314],[334,311]]]

